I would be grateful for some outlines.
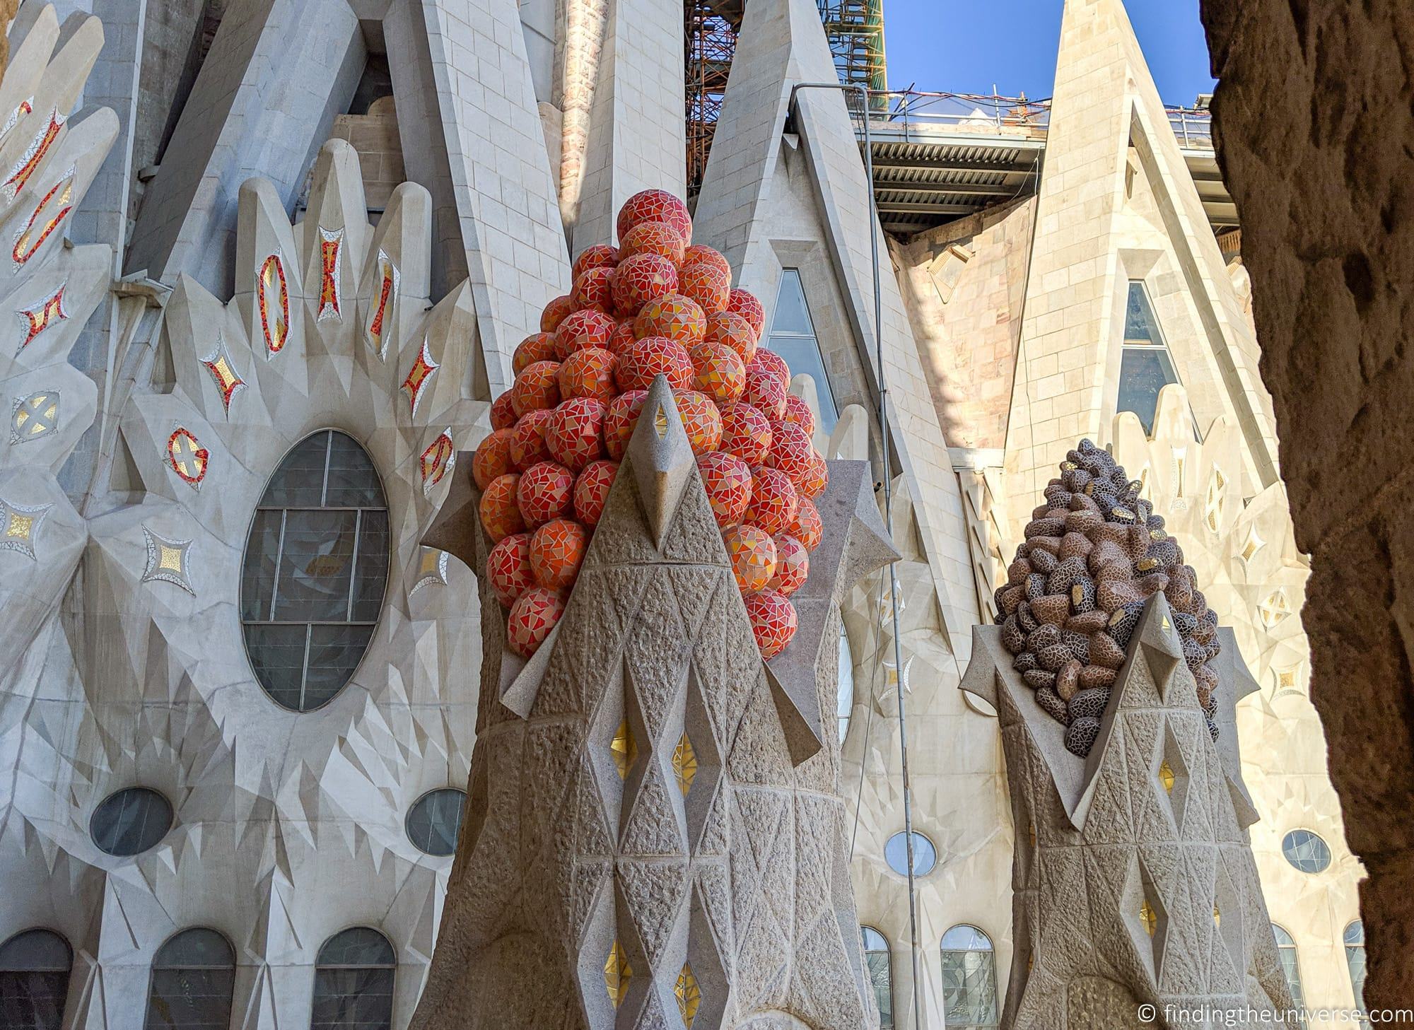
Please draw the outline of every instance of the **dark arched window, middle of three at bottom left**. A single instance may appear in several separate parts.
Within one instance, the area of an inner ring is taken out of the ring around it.
[[[184,930],[157,949],[146,1030],[226,1030],[236,952],[215,930]]]

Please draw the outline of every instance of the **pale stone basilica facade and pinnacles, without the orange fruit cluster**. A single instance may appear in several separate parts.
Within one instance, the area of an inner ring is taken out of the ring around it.
[[[1034,168],[902,232],[816,4],[724,4],[691,242],[830,474],[764,662],[662,379],[529,661],[477,525],[522,341],[687,194],[680,4],[18,3],[0,1023],[1343,1026],[1362,869],[1240,232],[1121,1],[1063,7],[1046,119],[949,129],[959,195],[984,137]]]

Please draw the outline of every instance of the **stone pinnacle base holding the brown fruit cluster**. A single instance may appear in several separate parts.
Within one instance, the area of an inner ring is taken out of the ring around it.
[[[1164,594],[1145,603],[1089,758],[1066,734],[1094,720],[1062,729],[1011,666],[1001,630],[974,632],[962,689],[997,709],[1018,828],[1003,1026],[1128,1027],[1145,1003],[1164,1027],[1202,1010],[1220,1026],[1249,1007],[1290,1026],[1246,835],[1256,814],[1236,753],[1208,731],[1174,623]],[[1215,662],[1227,727],[1234,699],[1256,689],[1233,649]]]

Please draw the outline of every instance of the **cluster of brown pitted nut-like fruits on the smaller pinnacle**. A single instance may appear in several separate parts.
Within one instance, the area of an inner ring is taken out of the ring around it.
[[[1100,733],[1144,601],[1159,591],[1217,740],[1217,675],[1208,666],[1219,651],[1217,615],[1141,487],[1109,451],[1082,440],[1046,485],[1046,502],[1031,514],[1007,586],[997,590],[1001,641],[1017,672],[1066,726],[1066,750],[1082,758]]]

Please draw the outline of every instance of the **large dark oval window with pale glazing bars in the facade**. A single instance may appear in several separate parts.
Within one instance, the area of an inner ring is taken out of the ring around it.
[[[260,686],[294,712],[354,675],[387,587],[387,499],[354,437],[301,440],[270,477],[246,539],[240,621]]]

